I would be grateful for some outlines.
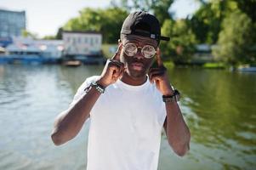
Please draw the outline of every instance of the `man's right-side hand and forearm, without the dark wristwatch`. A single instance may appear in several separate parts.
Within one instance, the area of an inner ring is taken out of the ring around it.
[[[164,67],[160,55],[161,52],[158,48],[156,53],[158,67],[151,68],[149,77],[151,82],[156,83],[156,88],[158,88],[162,95],[169,96],[174,94],[174,91],[168,81],[167,69]],[[176,102],[166,102],[165,107],[167,117],[163,127],[168,138],[168,143],[177,155],[184,156],[190,149],[190,130],[186,126],[183,116],[179,110],[179,105]]]

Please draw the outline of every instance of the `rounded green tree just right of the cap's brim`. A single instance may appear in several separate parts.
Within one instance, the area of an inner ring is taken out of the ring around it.
[[[171,37],[169,42],[161,42],[162,54],[175,63],[188,62],[195,52],[196,36],[187,20],[165,20],[162,34]]]

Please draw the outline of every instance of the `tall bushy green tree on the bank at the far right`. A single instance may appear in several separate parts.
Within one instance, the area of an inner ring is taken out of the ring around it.
[[[247,14],[237,10],[225,18],[222,26],[213,56],[231,65],[255,59],[249,54],[253,42],[253,24]]]

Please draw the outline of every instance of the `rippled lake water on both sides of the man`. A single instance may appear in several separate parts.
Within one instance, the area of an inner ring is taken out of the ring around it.
[[[82,170],[88,124],[54,146],[54,118],[86,77],[103,66],[0,65],[0,169]],[[162,133],[159,170],[256,169],[256,73],[169,69],[191,129],[191,150],[180,158]]]

